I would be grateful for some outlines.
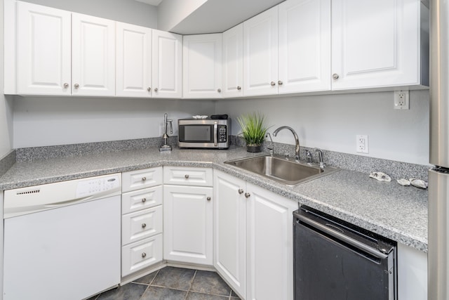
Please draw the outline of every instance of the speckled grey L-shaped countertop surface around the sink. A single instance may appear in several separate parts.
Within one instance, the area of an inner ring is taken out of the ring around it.
[[[294,187],[276,183],[225,161],[251,154],[229,150],[123,150],[100,154],[16,162],[0,177],[0,190],[54,183],[159,166],[213,167],[288,199],[427,252],[427,190],[380,182],[368,174],[342,169]]]

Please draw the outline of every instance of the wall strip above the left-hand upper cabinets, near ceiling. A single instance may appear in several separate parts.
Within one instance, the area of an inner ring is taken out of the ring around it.
[[[157,8],[134,0],[22,0],[157,29]]]

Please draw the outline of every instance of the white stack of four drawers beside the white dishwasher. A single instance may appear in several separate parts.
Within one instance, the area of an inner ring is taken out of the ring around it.
[[[162,167],[122,173],[122,278],[163,259],[162,197]]]

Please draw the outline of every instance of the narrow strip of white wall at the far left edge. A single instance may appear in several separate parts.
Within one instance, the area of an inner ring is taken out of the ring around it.
[[[11,100],[4,96],[4,0],[0,0],[0,158],[11,150],[12,137]]]

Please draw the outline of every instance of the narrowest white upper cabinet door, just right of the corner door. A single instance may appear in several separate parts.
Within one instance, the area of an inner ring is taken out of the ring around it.
[[[243,23],[223,32],[223,97],[243,96]]]

